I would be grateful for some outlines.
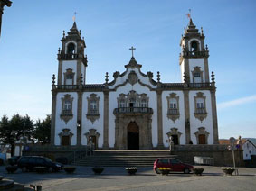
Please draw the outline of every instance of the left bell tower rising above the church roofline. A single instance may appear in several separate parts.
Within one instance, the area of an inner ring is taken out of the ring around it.
[[[63,31],[62,49],[58,50],[58,86],[84,85],[86,79],[87,56],[84,38],[81,39],[81,31],[74,22],[68,32]]]

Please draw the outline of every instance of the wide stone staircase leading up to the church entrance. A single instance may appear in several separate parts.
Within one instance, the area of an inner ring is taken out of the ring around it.
[[[95,150],[73,165],[89,167],[152,167],[157,158],[175,157],[169,150]]]

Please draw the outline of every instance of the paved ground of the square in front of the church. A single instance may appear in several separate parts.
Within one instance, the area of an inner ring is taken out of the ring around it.
[[[59,173],[7,174],[0,167],[0,176],[18,183],[42,185],[43,191],[103,191],[103,190],[256,190],[256,168],[239,168],[239,176],[224,176],[220,167],[204,166],[202,176],[172,173],[156,175],[152,168],[138,168],[137,175],[129,176],[125,168],[105,168],[101,175],[94,175],[89,167],[77,167],[74,174]]]

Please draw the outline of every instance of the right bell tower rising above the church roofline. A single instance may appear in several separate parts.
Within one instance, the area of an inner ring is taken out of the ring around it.
[[[201,28],[201,32],[198,32],[192,18],[190,18],[185,28],[180,46],[181,54],[179,64],[182,82],[209,83],[209,51],[207,45],[204,46],[203,28]]]

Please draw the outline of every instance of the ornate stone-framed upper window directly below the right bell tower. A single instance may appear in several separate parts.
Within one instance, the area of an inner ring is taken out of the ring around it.
[[[199,119],[201,123],[207,117],[206,96],[202,92],[198,92],[194,96],[194,117]]]

